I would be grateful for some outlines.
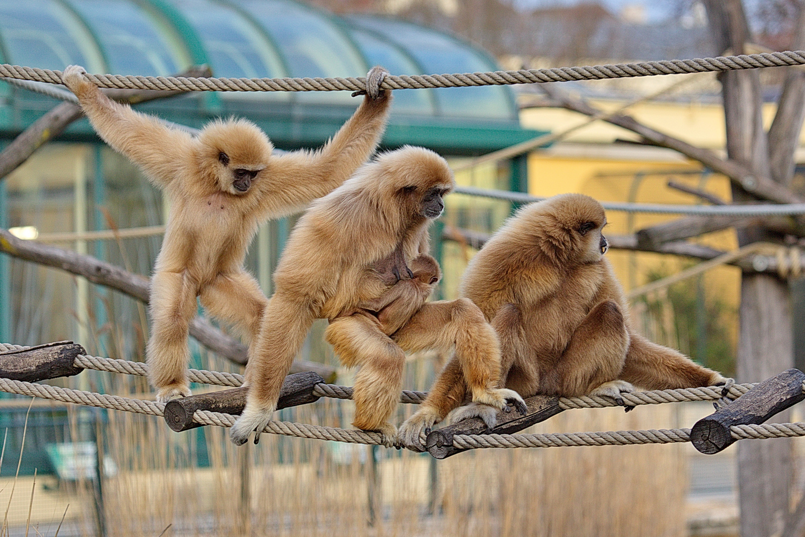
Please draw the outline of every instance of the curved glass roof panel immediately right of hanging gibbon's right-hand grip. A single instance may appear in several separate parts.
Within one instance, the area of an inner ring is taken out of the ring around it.
[[[366,60],[369,61],[369,65],[382,65],[392,75],[424,74],[419,72],[420,69],[417,65],[394,45],[357,27],[352,30],[352,35]],[[433,115],[435,110],[433,109],[432,92],[432,89],[397,89],[394,91],[394,102],[391,109],[403,114]]]

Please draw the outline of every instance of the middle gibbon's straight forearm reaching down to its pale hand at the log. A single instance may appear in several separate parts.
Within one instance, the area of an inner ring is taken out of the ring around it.
[[[252,431],[259,433],[271,420],[285,376],[315,318],[310,304],[279,292],[266,304],[246,365],[246,408],[229,430],[234,444],[246,444]]]

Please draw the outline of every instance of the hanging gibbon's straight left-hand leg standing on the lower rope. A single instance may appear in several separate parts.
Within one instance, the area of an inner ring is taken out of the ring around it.
[[[188,328],[196,315],[196,283],[185,273],[157,272],[151,279],[151,338],[148,380],[156,400],[190,395]]]

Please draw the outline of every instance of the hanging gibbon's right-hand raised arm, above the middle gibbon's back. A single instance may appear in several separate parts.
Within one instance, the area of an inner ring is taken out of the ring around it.
[[[320,150],[272,155],[267,180],[256,185],[261,188],[261,213],[294,213],[340,187],[378,146],[390,103],[389,91],[374,100],[364,97],[353,117]]]

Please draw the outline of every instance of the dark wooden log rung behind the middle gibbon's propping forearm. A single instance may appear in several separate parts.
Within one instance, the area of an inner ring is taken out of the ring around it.
[[[312,371],[288,375],[279,391],[277,410],[318,401],[319,396],[312,392],[313,386],[320,382],[324,379]],[[164,413],[167,426],[175,432],[201,427],[201,423],[193,423],[193,412],[198,410],[240,415],[246,407],[247,390],[246,387],[233,388],[169,401]]]

